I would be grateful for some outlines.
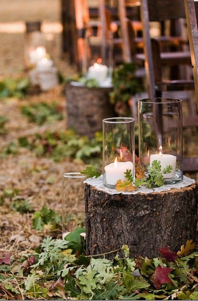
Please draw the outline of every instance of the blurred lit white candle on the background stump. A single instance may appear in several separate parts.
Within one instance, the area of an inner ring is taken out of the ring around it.
[[[99,84],[105,82],[108,75],[108,67],[106,65],[101,65],[94,63],[93,66],[88,68],[87,78],[95,79]]]

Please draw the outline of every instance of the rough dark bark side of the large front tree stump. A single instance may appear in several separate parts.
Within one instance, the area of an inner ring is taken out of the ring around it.
[[[88,254],[127,244],[130,256],[151,258],[159,255],[162,246],[176,252],[188,239],[195,242],[196,184],[147,194],[113,195],[85,184],[84,198]]]

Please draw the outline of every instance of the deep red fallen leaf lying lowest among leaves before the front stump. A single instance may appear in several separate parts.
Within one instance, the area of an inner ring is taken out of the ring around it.
[[[160,285],[163,283],[173,284],[168,274],[173,268],[161,267],[160,265],[155,268],[154,273],[151,275],[150,280],[154,283],[156,289],[160,289]]]

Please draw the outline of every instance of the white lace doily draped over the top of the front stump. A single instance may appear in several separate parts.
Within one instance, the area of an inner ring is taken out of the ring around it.
[[[103,176],[102,175],[97,179],[95,179],[95,177],[88,178],[87,180],[84,181],[84,183],[87,183],[87,184],[97,188],[98,190],[102,190],[108,194],[117,194],[117,193],[136,194],[136,193],[161,192],[161,191],[167,191],[170,189],[179,189],[179,188],[183,188],[185,186],[195,183],[195,180],[183,176],[183,181],[180,183],[171,184],[171,185],[170,184],[163,185],[161,187],[151,188],[151,189],[146,188],[145,186],[141,186],[140,188],[137,188],[137,190],[132,191],[132,192],[121,192],[121,191],[119,192],[119,191],[116,191],[116,189],[111,189],[111,188],[105,187],[103,185]]]

